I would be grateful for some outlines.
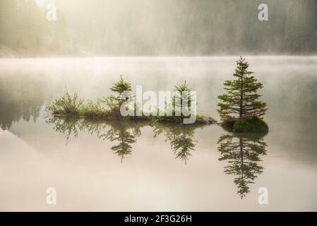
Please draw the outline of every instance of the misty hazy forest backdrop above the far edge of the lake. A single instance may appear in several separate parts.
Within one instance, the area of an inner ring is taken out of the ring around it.
[[[307,55],[316,28],[315,0],[0,0],[1,57]]]

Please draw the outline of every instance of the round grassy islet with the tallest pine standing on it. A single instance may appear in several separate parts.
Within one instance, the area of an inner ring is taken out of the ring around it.
[[[240,57],[237,61],[237,69],[233,76],[237,79],[225,81],[227,93],[218,98],[220,125],[225,129],[237,133],[267,133],[268,125],[263,121],[266,102],[258,100],[261,95],[258,90],[263,88],[253,74],[248,71],[249,64],[246,59]]]

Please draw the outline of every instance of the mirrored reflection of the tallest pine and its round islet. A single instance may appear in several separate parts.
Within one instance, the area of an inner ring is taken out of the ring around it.
[[[225,173],[234,175],[234,184],[241,198],[249,193],[249,184],[253,184],[254,179],[263,172],[258,162],[261,161],[260,156],[266,154],[264,135],[231,133],[220,136],[217,141],[217,150],[221,154],[219,160],[227,160]]]

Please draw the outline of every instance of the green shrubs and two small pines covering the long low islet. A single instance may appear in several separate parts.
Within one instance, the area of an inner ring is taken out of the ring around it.
[[[175,111],[172,111],[172,116],[127,116],[123,117],[120,112],[120,106],[123,102],[126,102],[123,96],[127,100],[133,100],[134,96],[131,93],[131,84],[124,81],[121,77],[120,81],[114,83],[110,90],[118,93],[118,95],[109,95],[108,97],[98,98],[97,102],[89,100],[87,104],[83,103],[83,100],[79,100],[77,93],[73,96],[66,93],[55,100],[49,107],[47,107],[47,112],[53,115],[66,116],[66,117],[85,117],[85,118],[102,118],[102,119],[116,119],[116,120],[128,120],[128,121],[152,121],[152,122],[169,122],[174,124],[182,124],[184,115],[176,116]],[[185,97],[188,98],[189,108],[191,107],[191,88],[189,85],[184,84],[175,86],[175,91],[179,93],[185,93]],[[172,100],[172,105],[177,105],[180,103],[180,108],[183,105],[182,100],[177,101],[178,96],[174,97]],[[137,107],[135,105],[135,107]],[[171,106],[167,106],[171,107]],[[174,109],[174,107],[173,107]],[[182,109],[181,109],[182,110]],[[189,109],[190,110],[190,109]],[[158,110],[157,110],[158,111]],[[181,112],[182,113],[182,112]],[[213,124],[215,119],[211,117],[203,117],[201,115],[196,116],[195,124]]]

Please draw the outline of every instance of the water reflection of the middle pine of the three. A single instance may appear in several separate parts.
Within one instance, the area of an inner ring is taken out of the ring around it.
[[[176,155],[175,158],[179,158],[186,164],[191,156],[191,151],[195,150],[196,147],[197,140],[194,136],[194,131],[198,126],[189,124],[155,124],[153,128],[154,137],[164,134],[165,142],[169,142]]]

